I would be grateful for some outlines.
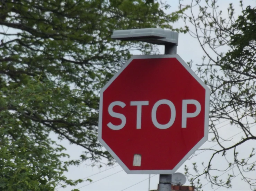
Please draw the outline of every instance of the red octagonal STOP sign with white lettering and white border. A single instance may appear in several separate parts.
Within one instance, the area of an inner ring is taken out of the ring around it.
[[[172,174],[208,139],[209,88],[176,55],[133,56],[100,92],[99,141],[129,174]]]

